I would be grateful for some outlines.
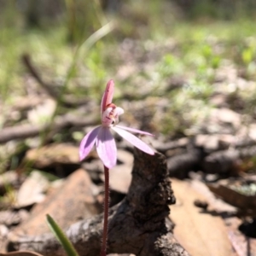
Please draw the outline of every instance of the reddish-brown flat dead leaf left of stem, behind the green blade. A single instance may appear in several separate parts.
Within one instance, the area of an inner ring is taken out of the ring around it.
[[[82,218],[99,213],[94,195],[96,189],[83,169],[73,172],[61,188],[33,208],[31,218],[18,226],[12,236],[33,236],[49,232],[46,214],[52,216],[61,229],[65,229]]]

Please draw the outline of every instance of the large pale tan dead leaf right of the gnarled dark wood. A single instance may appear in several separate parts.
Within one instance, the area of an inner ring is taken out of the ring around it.
[[[191,255],[230,256],[232,248],[222,218],[194,206],[195,200],[205,201],[204,196],[188,182],[175,179],[172,180],[172,189],[177,198],[176,205],[171,207],[177,241]]]

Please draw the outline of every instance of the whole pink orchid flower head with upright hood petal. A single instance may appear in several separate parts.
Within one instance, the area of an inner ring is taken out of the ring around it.
[[[117,132],[120,137],[125,138],[125,140],[133,146],[141,149],[143,152],[154,154],[154,150],[152,148],[150,148],[146,143],[143,143],[142,140],[131,134],[129,131],[149,136],[153,136],[152,134],[146,131],[117,125],[119,123],[119,115],[124,113],[124,110],[112,103],[113,88],[113,80],[110,80],[107,84],[104,95],[102,96],[102,125],[97,126],[95,129],[87,133],[79,147],[80,160],[83,160],[96,144],[96,151],[100,159],[104,166],[109,169],[116,165],[117,160],[117,148],[110,130]]]

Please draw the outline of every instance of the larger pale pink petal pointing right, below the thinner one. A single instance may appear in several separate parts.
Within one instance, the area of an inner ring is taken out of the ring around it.
[[[138,137],[134,136],[130,132],[123,130],[122,126],[117,127],[117,125],[115,125],[111,128],[113,129],[113,131],[116,131],[120,137],[125,138],[125,140],[131,143],[133,146],[141,149],[145,153],[154,154],[154,150],[150,148],[148,144],[144,143],[142,140],[140,140]]]

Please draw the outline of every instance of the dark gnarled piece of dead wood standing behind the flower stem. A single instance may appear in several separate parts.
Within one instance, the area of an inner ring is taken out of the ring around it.
[[[137,256],[188,256],[172,234],[169,205],[175,203],[166,158],[135,149],[131,187],[124,201],[110,208],[108,253]],[[110,170],[111,172],[111,170]],[[73,224],[67,230],[80,256],[99,255],[102,214]],[[10,237],[9,248],[33,250],[44,256],[65,253],[52,234]]]

